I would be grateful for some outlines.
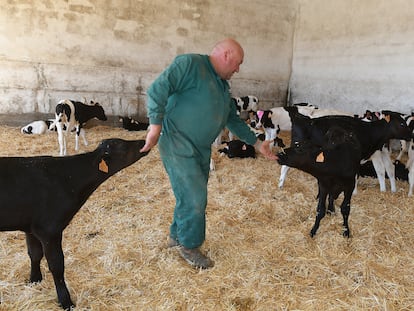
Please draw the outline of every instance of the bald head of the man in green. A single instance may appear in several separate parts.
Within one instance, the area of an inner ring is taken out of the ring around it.
[[[218,42],[211,51],[210,61],[217,74],[224,80],[230,80],[243,63],[244,51],[234,39],[227,38]]]

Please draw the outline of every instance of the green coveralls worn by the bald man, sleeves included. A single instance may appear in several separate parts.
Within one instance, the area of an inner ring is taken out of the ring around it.
[[[251,145],[256,136],[237,115],[229,84],[208,55],[177,56],[147,96],[150,124],[162,124],[158,148],[176,198],[170,237],[196,248],[205,239],[211,144],[224,127]]]

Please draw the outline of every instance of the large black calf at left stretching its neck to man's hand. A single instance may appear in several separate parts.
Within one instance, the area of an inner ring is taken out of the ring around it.
[[[147,153],[144,140],[103,140],[95,151],[68,157],[0,157],[0,231],[26,234],[30,282],[40,282],[46,257],[60,305],[74,304],[64,279],[62,233],[89,196]]]

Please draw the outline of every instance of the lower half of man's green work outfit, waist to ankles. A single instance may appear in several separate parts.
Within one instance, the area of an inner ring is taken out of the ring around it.
[[[211,149],[203,153],[183,137],[161,135],[159,151],[176,199],[170,237],[186,248],[205,240]]]

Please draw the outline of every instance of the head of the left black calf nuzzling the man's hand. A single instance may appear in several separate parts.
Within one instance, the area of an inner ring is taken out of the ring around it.
[[[139,150],[145,145],[145,140],[123,140],[111,138],[103,140],[96,149],[100,155],[99,170],[111,176],[123,168],[130,166],[148,152]]]

